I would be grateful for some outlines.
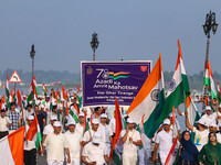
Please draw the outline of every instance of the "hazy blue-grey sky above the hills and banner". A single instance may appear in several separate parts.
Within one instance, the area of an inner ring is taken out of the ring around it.
[[[92,34],[98,34],[96,61],[152,61],[162,54],[173,72],[180,41],[188,74],[203,70],[207,36],[202,25],[212,10],[221,24],[220,0],[1,0],[0,70],[78,73],[92,61]],[[210,64],[221,74],[221,28],[211,34]]]

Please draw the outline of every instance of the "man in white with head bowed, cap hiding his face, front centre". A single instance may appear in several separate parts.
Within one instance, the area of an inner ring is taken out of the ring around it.
[[[87,165],[109,164],[106,146],[101,141],[101,134],[98,132],[95,132],[92,142],[84,146],[82,162]]]

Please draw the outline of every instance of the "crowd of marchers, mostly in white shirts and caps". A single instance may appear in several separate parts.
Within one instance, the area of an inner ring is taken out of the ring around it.
[[[67,165],[110,164],[109,155],[116,133],[115,117],[109,119],[104,107],[87,110],[80,108],[76,97],[70,97],[67,103],[73,116],[65,117],[61,105],[59,102],[52,105],[50,96],[39,97],[35,105],[27,102],[23,111],[17,109],[17,105],[11,102],[9,107],[1,109],[0,139],[22,125],[25,125],[27,133],[36,116],[42,142],[36,148],[35,141],[24,140],[25,165],[35,165],[36,154],[45,154],[49,165],[63,165],[64,162]],[[152,139],[143,136],[144,128],[138,131],[139,123],[125,116],[126,128],[120,132],[120,164],[147,165],[151,161],[164,165],[175,141],[175,130],[178,130],[177,135],[180,139],[176,164],[221,164],[221,105],[214,112],[210,106],[207,106],[206,113],[192,125],[188,112],[181,112],[179,108],[177,110],[186,118],[186,131],[181,133],[179,127],[175,128],[173,114],[170,113]],[[176,123],[179,125],[177,120]]]

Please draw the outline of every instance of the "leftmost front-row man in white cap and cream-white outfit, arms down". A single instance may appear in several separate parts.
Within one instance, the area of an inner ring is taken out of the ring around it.
[[[67,156],[67,163],[71,163],[69,142],[66,141],[63,133],[61,133],[62,124],[59,121],[53,123],[54,132],[46,135],[46,139],[43,143],[43,148],[41,154],[44,154],[45,147],[46,161],[49,165],[63,165],[64,163],[64,150]]]

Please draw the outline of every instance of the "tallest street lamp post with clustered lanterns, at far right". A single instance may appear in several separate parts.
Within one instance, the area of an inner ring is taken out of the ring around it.
[[[204,61],[204,73],[206,73],[207,64],[208,64],[208,59],[209,59],[210,31],[212,30],[213,34],[215,34],[217,29],[218,29],[218,24],[215,23],[215,13],[214,12],[210,11],[210,13],[207,14],[206,23],[202,26],[203,26],[204,34],[208,37],[206,61]],[[207,90],[208,90],[208,87],[204,85],[203,86],[203,100],[206,99]],[[204,105],[204,101],[203,101],[203,109],[204,109],[204,107],[206,107],[206,105]]]

